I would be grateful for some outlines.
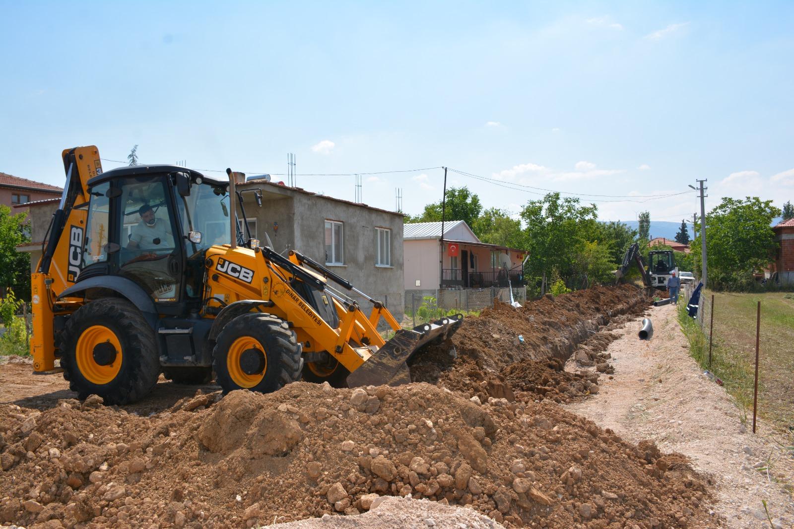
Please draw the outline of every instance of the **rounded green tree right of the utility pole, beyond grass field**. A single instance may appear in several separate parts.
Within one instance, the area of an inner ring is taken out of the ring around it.
[[[753,272],[773,260],[777,242],[771,228],[781,210],[758,197],[723,197],[706,215],[706,253],[709,287],[746,290]],[[700,233],[692,241],[692,260],[700,264]],[[700,272],[700,271],[699,271]]]

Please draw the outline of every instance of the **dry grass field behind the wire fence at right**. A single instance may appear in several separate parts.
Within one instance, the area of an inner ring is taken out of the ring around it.
[[[711,292],[706,294],[711,303]],[[783,430],[794,430],[794,295],[715,293],[712,371],[723,378],[740,407],[752,413],[757,303],[761,301],[758,412]],[[708,334],[709,310],[703,330]],[[707,367],[708,342],[692,336],[693,354]],[[693,339],[694,338],[694,339]],[[700,343],[698,343],[700,342]],[[700,349],[700,350],[696,350]]]

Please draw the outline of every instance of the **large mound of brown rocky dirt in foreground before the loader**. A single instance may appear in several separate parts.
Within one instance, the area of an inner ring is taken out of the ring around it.
[[[198,394],[151,417],[96,396],[44,411],[6,404],[0,522],[253,527],[410,494],[507,527],[707,523],[705,483],[679,456],[553,403],[478,401],[430,384],[299,382]]]

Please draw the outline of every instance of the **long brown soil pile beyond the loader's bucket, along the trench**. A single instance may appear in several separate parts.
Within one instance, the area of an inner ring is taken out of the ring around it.
[[[411,376],[483,401],[531,392],[532,399],[569,402],[597,392],[598,376],[562,371],[565,361],[575,355],[581,366],[611,373],[602,351],[616,335],[604,331],[648,305],[630,284],[546,295],[519,309],[497,301],[479,317],[464,319],[449,342],[418,355]]]

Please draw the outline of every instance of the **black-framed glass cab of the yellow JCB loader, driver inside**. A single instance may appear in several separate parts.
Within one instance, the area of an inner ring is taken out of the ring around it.
[[[79,280],[120,276],[160,315],[197,311],[204,253],[229,244],[228,183],[175,166],[114,169],[88,182]]]

